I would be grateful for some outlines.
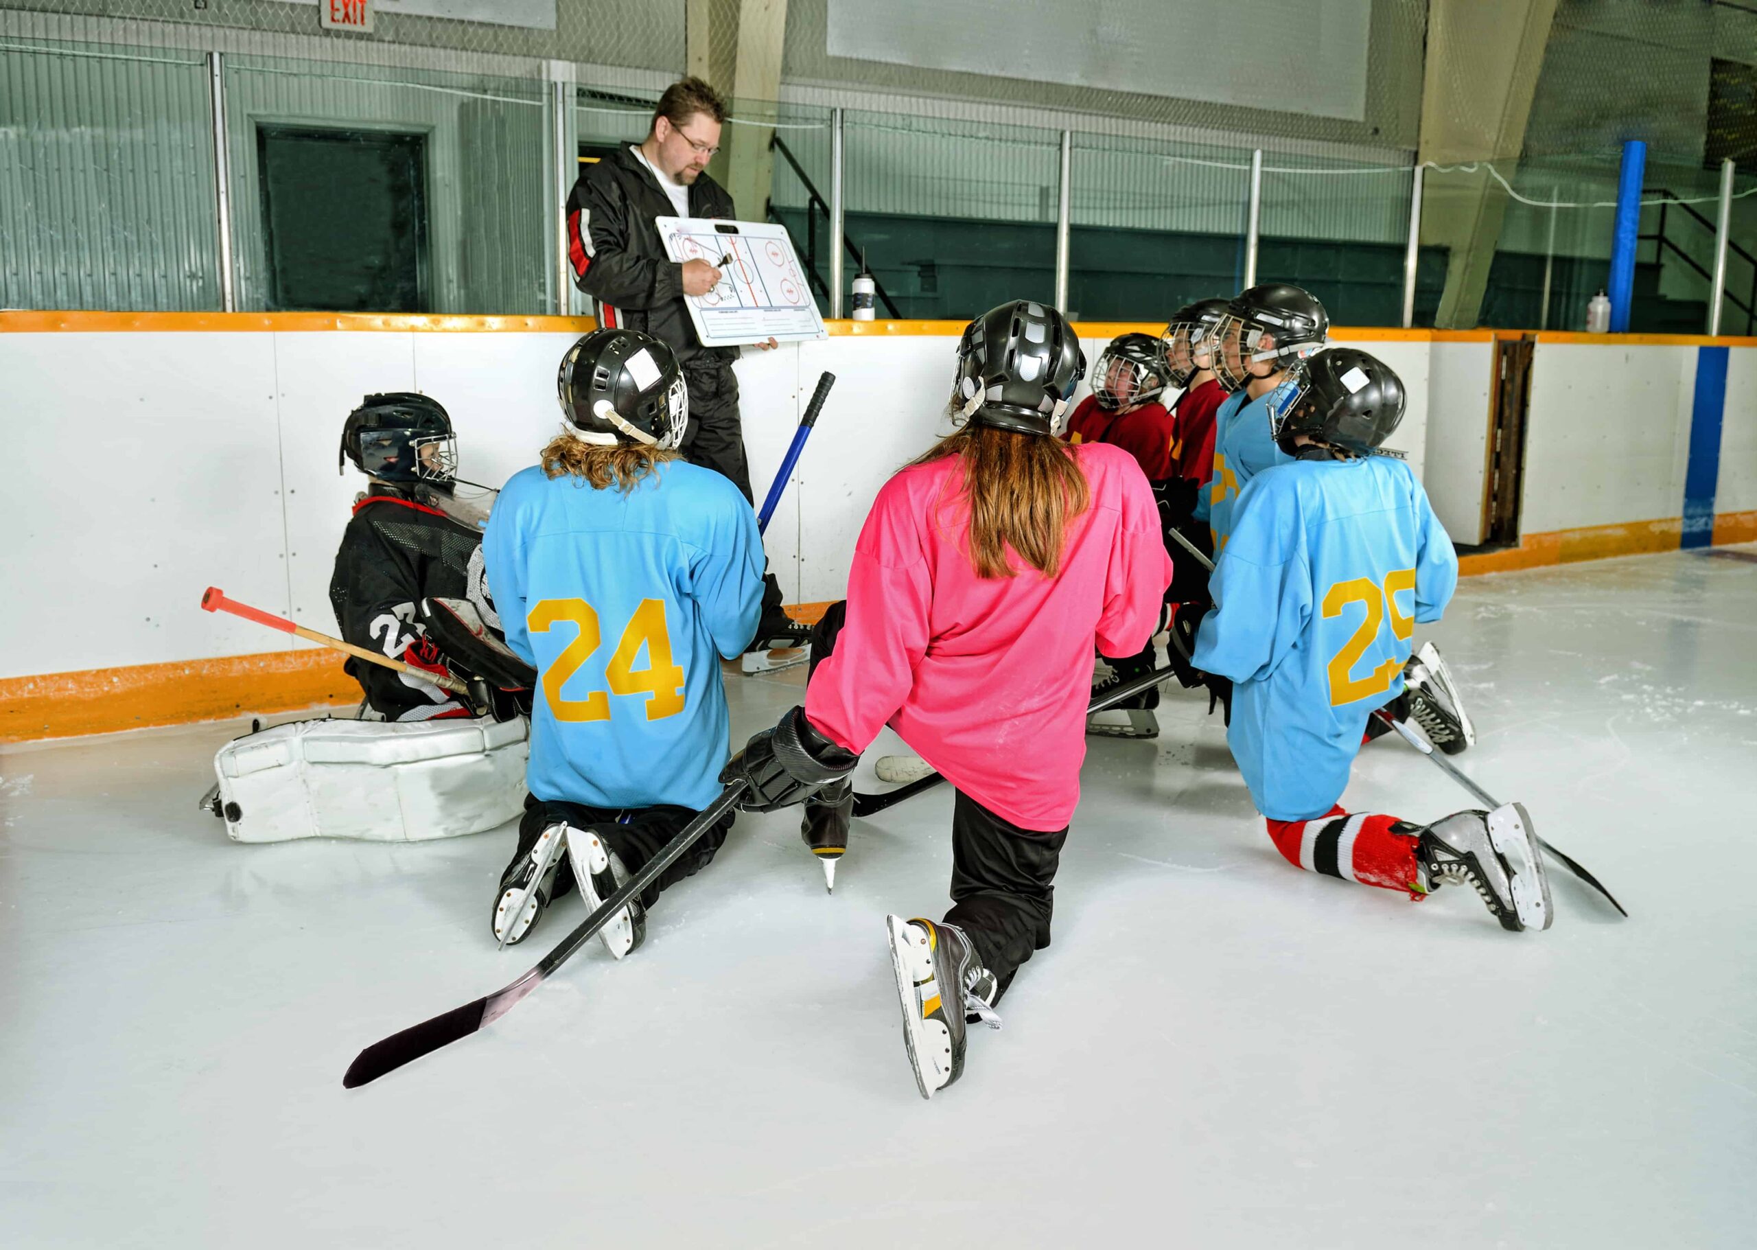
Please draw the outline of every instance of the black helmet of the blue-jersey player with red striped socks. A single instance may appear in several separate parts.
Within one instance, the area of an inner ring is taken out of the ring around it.
[[[1327,348],[1302,360],[1269,396],[1269,434],[1288,455],[1295,434],[1370,455],[1402,418],[1402,378],[1356,348]]]

